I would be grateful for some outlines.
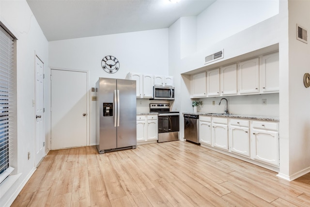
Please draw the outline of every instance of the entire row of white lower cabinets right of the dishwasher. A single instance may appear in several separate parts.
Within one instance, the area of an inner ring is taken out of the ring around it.
[[[200,115],[199,142],[279,167],[279,122]]]

